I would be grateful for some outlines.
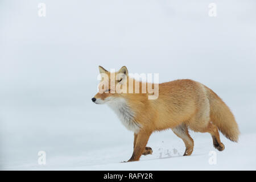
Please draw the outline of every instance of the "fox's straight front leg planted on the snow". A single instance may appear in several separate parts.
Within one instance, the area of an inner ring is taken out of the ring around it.
[[[152,132],[148,132],[148,131],[144,131],[144,130],[139,131],[139,133],[136,136],[136,142],[135,142],[135,146],[133,148],[133,155],[127,162],[137,161],[137,160],[139,160],[139,158],[141,158],[141,155],[146,148],[146,144],[147,144],[147,141],[148,141],[151,133]]]

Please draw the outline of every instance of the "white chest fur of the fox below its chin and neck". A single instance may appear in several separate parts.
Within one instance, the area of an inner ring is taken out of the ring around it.
[[[108,105],[114,110],[118,118],[128,130],[131,130],[134,133],[139,132],[141,126],[134,121],[134,112],[129,106],[127,106],[125,99],[116,98],[108,102]]]

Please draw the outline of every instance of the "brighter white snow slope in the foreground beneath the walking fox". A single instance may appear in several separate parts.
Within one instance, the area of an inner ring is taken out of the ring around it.
[[[157,134],[155,134],[157,135]],[[168,136],[170,135],[170,136]],[[36,151],[32,159],[13,160],[12,163],[3,163],[4,170],[255,170],[255,142],[256,134],[241,135],[239,143],[232,143],[222,137],[225,150],[217,151],[212,146],[209,135],[195,134],[195,148],[191,156],[182,156],[183,142],[171,137],[170,132],[166,137],[156,137],[148,142],[154,152],[152,155],[142,156],[139,162],[121,163],[130,158],[131,144],[119,144],[113,147],[102,147],[90,151],[56,152],[55,149],[46,150],[47,163],[39,165]],[[160,139],[159,141],[156,138]],[[162,140],[161,140],[162,139]],[[66,143],[68,145],[68,143]],[[70,143],[72,146],[72,143]],[[44,148],[44,147],[41,147]],[[216,152],[216,163],[211,163]],[[19,153],[22,157],[22,154]],[[17,156],[14,156],[17,159]],[[15,162],[14,162],[15,161]]]

